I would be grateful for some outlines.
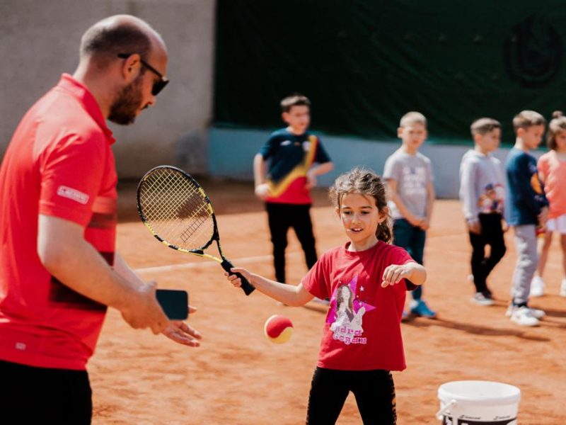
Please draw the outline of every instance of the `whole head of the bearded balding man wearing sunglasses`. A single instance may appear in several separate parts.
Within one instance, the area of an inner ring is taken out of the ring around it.
[[[73,76],[114,123],[133,123],[168,83],[165,43],[135,16],[110,16],[95,23],[84,33],[80,52]]]

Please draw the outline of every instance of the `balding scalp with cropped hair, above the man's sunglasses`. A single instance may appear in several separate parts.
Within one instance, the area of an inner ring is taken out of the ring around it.
[[[120,53],[139,53],[146,59],[154,52],[166,54],[161,35],[145,21],[130,15],[105,18],[88,28],[81,38],[81,61],[94,60],[101,67]]]

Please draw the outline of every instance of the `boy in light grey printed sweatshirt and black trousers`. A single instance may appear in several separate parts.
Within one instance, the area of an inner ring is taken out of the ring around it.
[[[475,295],[471,301],[492,305],[492,293],[486,279],[505,254],[503,239],[504,176],[495,151],[501,140],[501,124],[492,118],[480,118],[470,126],[474,149],[460,164],[460,200],[472,245],[472,275]],[[490,245],[489,256],[485,246]]]

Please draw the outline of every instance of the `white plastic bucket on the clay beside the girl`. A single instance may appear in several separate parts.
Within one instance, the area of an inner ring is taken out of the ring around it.
[[[443,425],[516,425],[521,390],[490,381],[454,381],[438,389]]]

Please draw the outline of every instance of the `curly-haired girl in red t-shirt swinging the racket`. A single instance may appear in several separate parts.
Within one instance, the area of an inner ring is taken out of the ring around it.
[[[330,197],[350,240],[323,254],[299,285],[267,280],[245,268],[232,271],[286,305],[330,298],[307,424],[335,424],[350,391],[364,424],[395,424],[390,370],[406,367],[400,331],[405,293],[421,285],[427,273],[407,251],[390,244],[389,210],[379,176],[353,169],[336,179]],[[236,276],[228,279],[241,285]]]

